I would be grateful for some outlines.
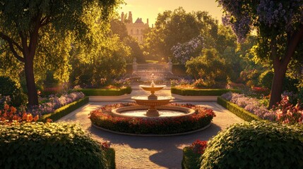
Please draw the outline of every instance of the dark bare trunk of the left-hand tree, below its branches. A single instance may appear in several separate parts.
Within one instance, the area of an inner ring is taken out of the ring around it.
[[[39,104],[37,88],[35,84],[34,66],[32,59],[25,60],[25,80],[28,89],[28,106]]]

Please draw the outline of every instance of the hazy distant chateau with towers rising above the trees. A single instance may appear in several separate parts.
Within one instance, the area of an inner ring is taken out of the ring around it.
[[[143,44],[143,30],[149,27],[148,19],[146,23],[143,23],[142,18],[137,18],[135,23],[133,23],[133,15],[131,11],[129,11],[129,18],[127,19],[128,22],[125,22],[126,29],[131,37],[134,37],[138,40],[139,44]],[[121,22],[124,23],[124,13],[121,13]]]

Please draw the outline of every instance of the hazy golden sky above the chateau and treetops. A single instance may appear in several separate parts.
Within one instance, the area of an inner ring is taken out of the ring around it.
[[[166,10],[174,11],[174,9],[182,6],[186,12],[191,11],[208,11],[213,18],[221,23],[222,10],[218,7],[215,0],[124,0],[126,5],[121,5],[118,8],[118,13],[121,12],[133,14],[133,22],[137,18],[142,18],[146,23],[149,19],[149,25],[155,23],[158,13],[163,13]]]

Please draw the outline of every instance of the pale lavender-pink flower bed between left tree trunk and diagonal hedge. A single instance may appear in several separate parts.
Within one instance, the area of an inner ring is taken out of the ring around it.
[[[70,94],[62,94],[59,97],[52,94],[49,98],[40,98],[41,104],[39,106],[33,106],[29,111],[32,115],[41,116],[52,113],[56,109],[65,106],[66,104],[71,104],[71,102],[82,99],[83,97],[84,94],[82,92],[71,92]]]

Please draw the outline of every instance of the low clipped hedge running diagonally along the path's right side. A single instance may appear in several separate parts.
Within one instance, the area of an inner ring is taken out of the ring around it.
[[[258,117],[258,115],[246,111],[244,108],[237,106],[237,104],[232,104],[230,101],[223,99],[221,96],[218,96],[217,103],[225,107],[227,110],[231,111],[235,115],[237,115],[239,118],[242,118],[243,120],[246,121],[262,120],[261,118]]]

